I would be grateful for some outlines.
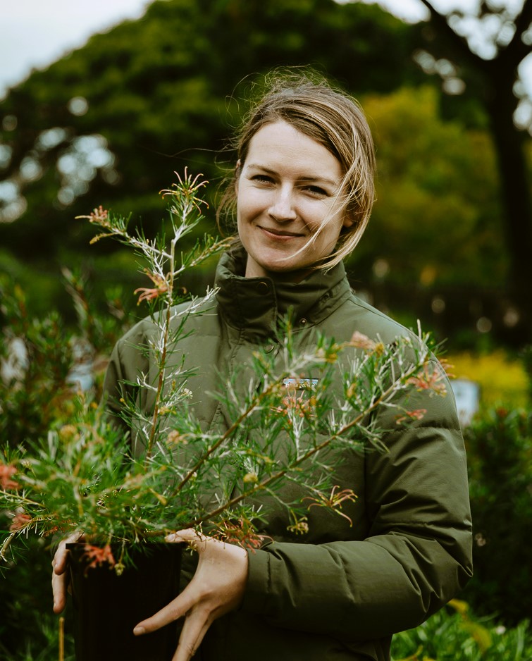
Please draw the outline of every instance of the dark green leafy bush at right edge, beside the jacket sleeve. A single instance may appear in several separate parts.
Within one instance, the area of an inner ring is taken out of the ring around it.
[[[474,578],[465,598],[516,624],[532,612],[532,412],[502,407],[465,429]]]

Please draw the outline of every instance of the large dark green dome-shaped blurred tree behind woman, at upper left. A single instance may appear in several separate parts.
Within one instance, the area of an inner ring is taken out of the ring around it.
[[[423,78],[412,34],[376,6],[333,0],[155,1],[4,100],[0,245],[27,261],[63,259],[87,246],[73,216],[97,203],[133,211],[149,233],[172,171],[221,177],[214,155],[251,77],[312,63],[357,92],[384,92]]]

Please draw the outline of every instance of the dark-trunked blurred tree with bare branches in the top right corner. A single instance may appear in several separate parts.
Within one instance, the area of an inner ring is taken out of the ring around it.
[[[489,118],[500,177],[504,235],[509,253],[509,287],[521,319],[521,342],[532,333],[532,187],[526,144],[532,132],[532,99],[519,80],[519,66],[531,57],[532,0],[481,0],[476,13],[452,8],[447,14],[421,0],[431,13],[426,51],[417,60],[440,73],[452,94],[474,94]],[[519,122],[519,126],[516,125]]]

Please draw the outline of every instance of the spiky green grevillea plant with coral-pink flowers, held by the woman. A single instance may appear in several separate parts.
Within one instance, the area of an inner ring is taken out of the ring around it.
[[[25,449],[8,450],[5,444],[4,566],[29,533],[83,531],[89,564],[107,562],[117,572],[131,545],[176,529],[193,527],[258,547],[268,516],[256,505],[261,495],[282,504],[292,534],[308,532],[313,507],[350,524],[342,507],[356,499],[356,485],[352,490],[335,483],[335,462],[345,451],[385,452],[386,431],[423,416],[423,409],[407,406],[409,393],[445,395],[444,373],[431,361],[421,331],[392,344],[356,332],[348,342],[316,334],[311,347],[302,347],[285,319],[275,355],[258,348],[230,380],[221,375],[218,391],[209,396],[220,400],[230,424],[203,431],[188,388],[192,372],[172,360],[190,333],[187,321],[212,309],[216,296],[209,289],[201,298],[185,299],[180,276],[228,245],[205,237],[192,250],[181,249],[183,237],[202,220],[203,186],[185,171],[163,191],[171,200],[170,230],[154,240],[130,233],[124,218],[101,207],[82,216],[101,230],[93,241],[114,237],[132,247],[154,285],[136,291],[149,306],[153,328],[149,344],[137,350],[149,353],[156,376],[138,373],[135,383],[123,384],[124,393],[129,386],[149,390],[154,407],[146,414],[138,398],[124,395],[123,424],[116,424],[106,402],[78,394],[68,424],[51,428],[47,438]],[[131,451],[131,435],[143,452]],[[297,483],[297,502],[281,495],[287,483]]]

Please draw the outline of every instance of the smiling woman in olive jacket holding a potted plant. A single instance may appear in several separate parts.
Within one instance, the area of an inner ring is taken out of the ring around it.
[[[235,206],[238,240],[218,264],[216,314],[195,318],[193,338],[185,340],[183,354],[197,367],[191,390],[216,390],[216,373],[230,376],[257,346],[276,350],[272,329],[288,309],[301,347],[316,329],[338,342],[354,331],[383,342],[407,334],[352,293],[342,264],[374,196],[373,142],[359,106],[326,82],[281,78],[249,114],[237,152],[222,210]],[[118,342],[106,376],[111,397],[147,367],[133,348],[145,333],[140,322]],[[426,414],[406,430],[395,426],[383,439],[388,452],[353,454],[340,464],[335,483],[359,496],[346,510],[352,526],[316,507],[302,543],[272,513],[266,533],[273,543],[256,552],[178,531],[168,540],[192,543],[197,569],[135,634],[184,618],[175,661],[194,653],[209,661],[389,659],[392,634],[423,622],[471,575],[454,401],[415,397]],[[208,396],[195,412],[206,430],[224,424]],[[61,547],[56,612],[65,602],[66,562]]]

